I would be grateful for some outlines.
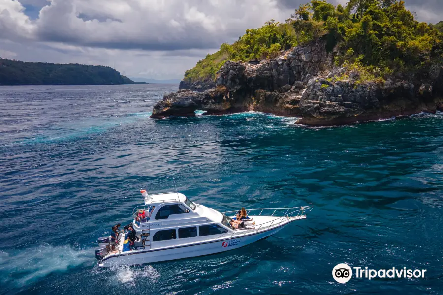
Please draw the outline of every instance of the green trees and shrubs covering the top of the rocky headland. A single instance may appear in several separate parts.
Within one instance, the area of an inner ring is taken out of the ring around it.
[[[304,42],[326,42],[337,50],[336,64],[382,79],[393,73],[422,74],[443,58],[443,22],[431,25],[415,20],[397,0],[349,0],[344,7],[324,0],[301,5],[284,24],[274,20],[248,29],[232,45],[186,71],[185,80],[214,79],[226,60],[269,59],[280,50]],[[370,79],[370,80],[371,80]]]

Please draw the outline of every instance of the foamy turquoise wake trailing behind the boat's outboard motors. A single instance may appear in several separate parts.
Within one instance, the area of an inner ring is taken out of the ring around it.
[[[43,244],[33,249],[0,251],[0,282],[17,287],[31,284],[52,273],[65,272],[76,266],[94,265],[93,249]]]

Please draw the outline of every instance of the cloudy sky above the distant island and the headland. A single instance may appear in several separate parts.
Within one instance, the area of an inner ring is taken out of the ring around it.
[[[129,77],[181,79],[187,69],[308,0],[0,0],[0,57],[114,66]],[[346,4],[347,0],[330,0]],[[405,0],[443,20],[443,0]]]

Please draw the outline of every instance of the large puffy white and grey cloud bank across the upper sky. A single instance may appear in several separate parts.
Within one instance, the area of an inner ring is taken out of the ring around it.
[[[289,13],[273,0],[52,0],[32,21],[19,2],[0,1],[11,15],[0,29],[15,28],[3,38],[115,49],[217,48]]]

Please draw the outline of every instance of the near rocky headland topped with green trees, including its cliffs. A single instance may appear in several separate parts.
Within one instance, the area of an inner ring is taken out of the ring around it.
[[[399,0],[300,5],[223,43],[185,72],[151,118],[259,111],[342,125],[443,111],[443,22]]]

